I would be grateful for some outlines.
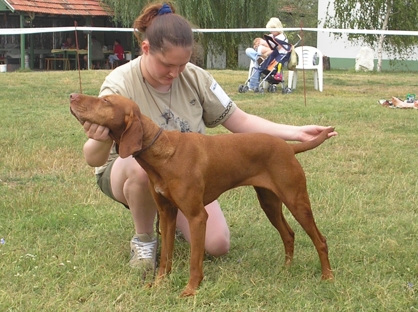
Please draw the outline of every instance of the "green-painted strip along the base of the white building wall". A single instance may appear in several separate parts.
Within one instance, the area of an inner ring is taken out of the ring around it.
[[[331,68],[353,69],[356,65],[354,58],[329,58]],[[377,60],[375,60],[375,69]],[[418,71],[418,60],[382,60],[382,70]]]

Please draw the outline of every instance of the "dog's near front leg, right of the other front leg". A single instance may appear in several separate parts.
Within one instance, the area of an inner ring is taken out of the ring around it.
[[[189,206],[182,212],[189,221],[190,229],[190,278],[186,289],[181,293],[181,297],[193,296],[196,294],[196,288],[199,287],[203,279],[203,258],[205,253],[205,234],[206,220],[208,214],[203,206]]]

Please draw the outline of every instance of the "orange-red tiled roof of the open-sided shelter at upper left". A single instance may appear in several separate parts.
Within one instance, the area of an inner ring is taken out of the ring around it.
[[[100,0],[8,0],[16,11],[57,15],[113,15]]]

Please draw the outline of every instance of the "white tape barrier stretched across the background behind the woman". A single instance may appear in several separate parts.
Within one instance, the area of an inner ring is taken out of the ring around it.
[[[134,28],[108,28],[108,27],[44,27],[44,28],[0,28],[0,35],[20,35],[32,33],[55,33],[66,31],[124,31],[133,32]],[[339,28],[208,28],[208,29],[193,29],[194,32],[199,33],[242,33],[242,32],[270,32],[270,31],[314,31],[324,33],[354,33],[354,34],[375,34],[375,35],[412,35],[417,36],[418,31],[412,30],[376,30],[376,29],[339,29]]]

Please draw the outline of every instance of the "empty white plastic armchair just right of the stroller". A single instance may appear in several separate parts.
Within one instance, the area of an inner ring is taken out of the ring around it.
[[[303,48],[303,50],[302,50]],[[289,70],[288,87],[296,89],[296,82],[298,80],[298,70],[313,70],[314,71],[314,86],[315,90],[322,92],[322,53],[315,47],[296,47],[295,52],[298,55],[298,65],[295,70]],[[316,53],[316,59],[314,58]],[[317,62],[315,62],[317,60]],[[318,63],[314,65],[315,63]],[[293,85],[292,85],[293,82]]]

